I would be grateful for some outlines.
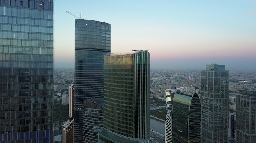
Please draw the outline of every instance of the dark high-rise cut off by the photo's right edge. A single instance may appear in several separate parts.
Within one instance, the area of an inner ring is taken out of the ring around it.
[[[256,142],[256,89],[244,87],[236,98],[236,143]]]

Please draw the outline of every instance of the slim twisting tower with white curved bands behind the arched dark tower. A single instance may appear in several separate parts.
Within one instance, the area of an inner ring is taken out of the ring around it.
[[[175,92],[179,90],[179,92],[187,91],[187,87],[180,87],[177,89],[166,89],[166,105],[167,105],[167,114],[165,120],[165,143],[172,143],[172,110],[173,110],[173,97]]]

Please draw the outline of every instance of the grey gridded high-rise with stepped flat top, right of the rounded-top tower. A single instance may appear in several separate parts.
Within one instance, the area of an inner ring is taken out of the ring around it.
[[[227,143],[229,71],[225,65],[206,65],[201,78],[201,143]]]

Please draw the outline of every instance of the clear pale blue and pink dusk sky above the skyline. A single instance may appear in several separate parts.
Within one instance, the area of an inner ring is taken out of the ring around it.
[[[55,68],[74,68],[76,17],[111,24],[111,52],[148,50],[151,69],[256,70],[256,0],[55,0]],[[72,13],[76,17],[66,13]]]

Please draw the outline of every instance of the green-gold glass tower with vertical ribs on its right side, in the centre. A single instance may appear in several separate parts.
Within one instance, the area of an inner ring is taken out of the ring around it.
[[[104,128],[99,143],[148,143],[150,54],[105,56]]]

